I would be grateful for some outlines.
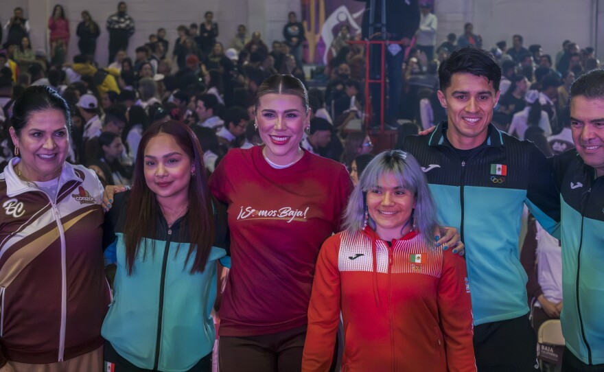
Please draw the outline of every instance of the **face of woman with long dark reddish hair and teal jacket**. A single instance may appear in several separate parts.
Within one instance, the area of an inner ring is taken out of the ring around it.
[[[182,200],[189,193],[195,165],[171,135],[160,133],[143,151],[145,181],[160,202]]]

